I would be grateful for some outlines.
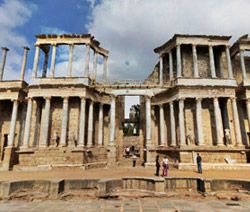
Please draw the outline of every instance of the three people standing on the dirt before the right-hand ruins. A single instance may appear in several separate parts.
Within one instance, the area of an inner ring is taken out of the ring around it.
[[[202,173],[201,161],[202,161],[202,158],[201,158],[200,154],[197,153],[196,164],[197,164],[198,173],[200,173],[200,174]],[[156,166],[156,172],[155,172],[156,176],[160,176],[161,166],[162,166],[162,176],[163,177],[168,176],[169,161],[168,161],[167,156],[164,156],[162,162],[160,162],[160,156],[157,155],[156,159],[155,159],[155,166]]]

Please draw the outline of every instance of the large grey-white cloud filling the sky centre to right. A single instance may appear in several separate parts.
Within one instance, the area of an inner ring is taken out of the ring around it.
[[[87,25],[110,50],[110,78],[144,79],[158,60],[153,49],[175,33],[233,35],[250,31],[249,0],[103,0]]]

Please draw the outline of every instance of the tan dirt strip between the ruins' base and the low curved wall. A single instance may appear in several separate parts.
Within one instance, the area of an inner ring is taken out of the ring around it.
[[[57,168],[50,171],[2,171],[0,181],[42,180],[42,179],[100,179],[121,178],[125,176],[154,177],[154,168],[102,168],[81,170],[79,168]],[[170,177],[202,177],[206,179],[244,179],[250,180],[250,170],[204,170],[195,171],[169,170]]]

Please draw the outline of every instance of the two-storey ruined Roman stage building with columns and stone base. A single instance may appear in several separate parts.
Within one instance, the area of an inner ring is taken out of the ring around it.
[[[143,82],[109,83],[109,52],[90,34],[37,35],[32,79],[3,80],[0,66],[0,169],[121,165],[124,96],[140,96],[138,162],[168,155],[178,168],[241,168],[250,162],[250,38],[174,35],[154,49],[159,62]],[[58,77],[58,48],[68,48],[66,76]],[[81,76],[74,50],[85,51]],[[100,70],[100,61],[102,70]],[[101,73],[99,73],[101,71]],[[99,79],[97,76],[102,76]]]

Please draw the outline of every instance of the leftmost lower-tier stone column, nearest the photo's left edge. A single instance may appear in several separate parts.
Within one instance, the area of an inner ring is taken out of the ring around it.
[[[9,136],[8,136],[9,147],[14,146],[17,113],[18,113],[18,101],[15,99],[13,100],[13,108],[12,108],[11,121],[10,121],[10,131],[9,131]]]

